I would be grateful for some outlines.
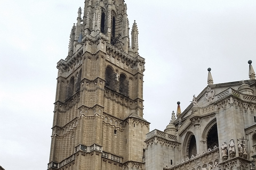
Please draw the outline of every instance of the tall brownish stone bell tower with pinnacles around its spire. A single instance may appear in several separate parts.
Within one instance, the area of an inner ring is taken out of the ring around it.
[[[143,169],[145,59],[124,0],[85,0],[57,64],[47,169]]]

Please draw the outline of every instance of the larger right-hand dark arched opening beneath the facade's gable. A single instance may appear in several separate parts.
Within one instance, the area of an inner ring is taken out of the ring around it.
[[[209,132],[207,133],[207,149],[211,148],[213,149],[214,146],[219,147],[219,139],[218,139],[218,130],[217,130],[217,124],[215,123]]]

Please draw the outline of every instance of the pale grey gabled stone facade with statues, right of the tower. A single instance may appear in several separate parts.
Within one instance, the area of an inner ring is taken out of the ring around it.
[[[164,132],[147,134],[146,169],[255,169],[256,80],[208,86]]]

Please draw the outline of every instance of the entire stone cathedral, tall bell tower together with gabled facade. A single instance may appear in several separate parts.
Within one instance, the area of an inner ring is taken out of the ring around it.
[[[57,64],[49,170],[255,169],[256,80],[208,86],[164,131],[143,119],[145,59],[124,0],[85,0]],[[177,117],[176,117],[177,116]]]

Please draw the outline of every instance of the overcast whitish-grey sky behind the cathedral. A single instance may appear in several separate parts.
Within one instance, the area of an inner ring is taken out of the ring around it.
[[[146,59],[144,117],[164,130],[177,101],[183,111],[207,86],[248,79],[256,69],[256,1],[126,0]],[[0,165],[47,169],[56,63],[83,0],[0,2]]]

